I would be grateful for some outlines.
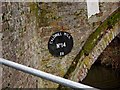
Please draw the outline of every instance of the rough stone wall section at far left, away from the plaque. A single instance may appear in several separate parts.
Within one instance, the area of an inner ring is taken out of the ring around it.
[[[38,68],[36,18],[30,14],[29,3],[2,3],[3,58]],[[3,88],[35,88],[37,78],[3,66]]]

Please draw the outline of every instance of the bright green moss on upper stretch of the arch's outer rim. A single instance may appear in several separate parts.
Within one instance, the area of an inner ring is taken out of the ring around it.
[[[111,29],[112,26],[115,25],[120,20],[120,10],[118,9],[116,12],[114,12],[110,17],[108,17],[96,30],[93,32],[88,40],[86,41],[85,45],[83,46],[84,52],[86,54],[89,54],[89,52],[93,49],[93,47],[96,45],[99,38],[97,36],[101,36],[101,32],[106,31],[106,29]]]

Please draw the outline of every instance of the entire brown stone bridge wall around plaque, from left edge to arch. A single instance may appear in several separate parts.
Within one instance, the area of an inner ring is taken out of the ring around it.
[[[102,2],[100,13],[88,20],[85,2],[2,3],[2,57],[64,77],[89,35],[117,7],[118,3]],[[56,31],[73,36],[73,49],[64,57],[52,56],[47,48]],[[3,66],[2,86],[53,88],[58,84]]]

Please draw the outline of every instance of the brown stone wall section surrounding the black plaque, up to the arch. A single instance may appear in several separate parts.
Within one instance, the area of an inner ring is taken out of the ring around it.
[[[87,18],[85,2],[42,3],[38,7],[41,10],[46,10],[42,18],[45,18],[47,21],[47,24],[43,23],[42,27],[38,29],[41,37],[40,51],[42,52],[40,69],[63,77],[88,36],[118,7],[118,3],[100,3],[100,13],[92,16],[90,19]],[[40,15],[43,14],[40,13]],[[49,37],[56,31],[67,31],[73,36],[73,49],[64,57],[54,57],[47,49]],[[41,81],[40,85],[51,88],[57,87],[56,84],[46,80]]]

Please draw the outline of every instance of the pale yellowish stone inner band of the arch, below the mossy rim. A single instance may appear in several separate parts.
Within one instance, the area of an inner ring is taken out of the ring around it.
[[[74,81],[82,81],[92,64],[97,60],[103,50],[109,45],[109,43],[120,33],[118,29],[118,23],[113,29],[110,29],[108,33],[98,42],[98,44],[92,49],[88,56],[85,56],[82,62],[77,65],[75,71],[72,73],[70,79]]]

